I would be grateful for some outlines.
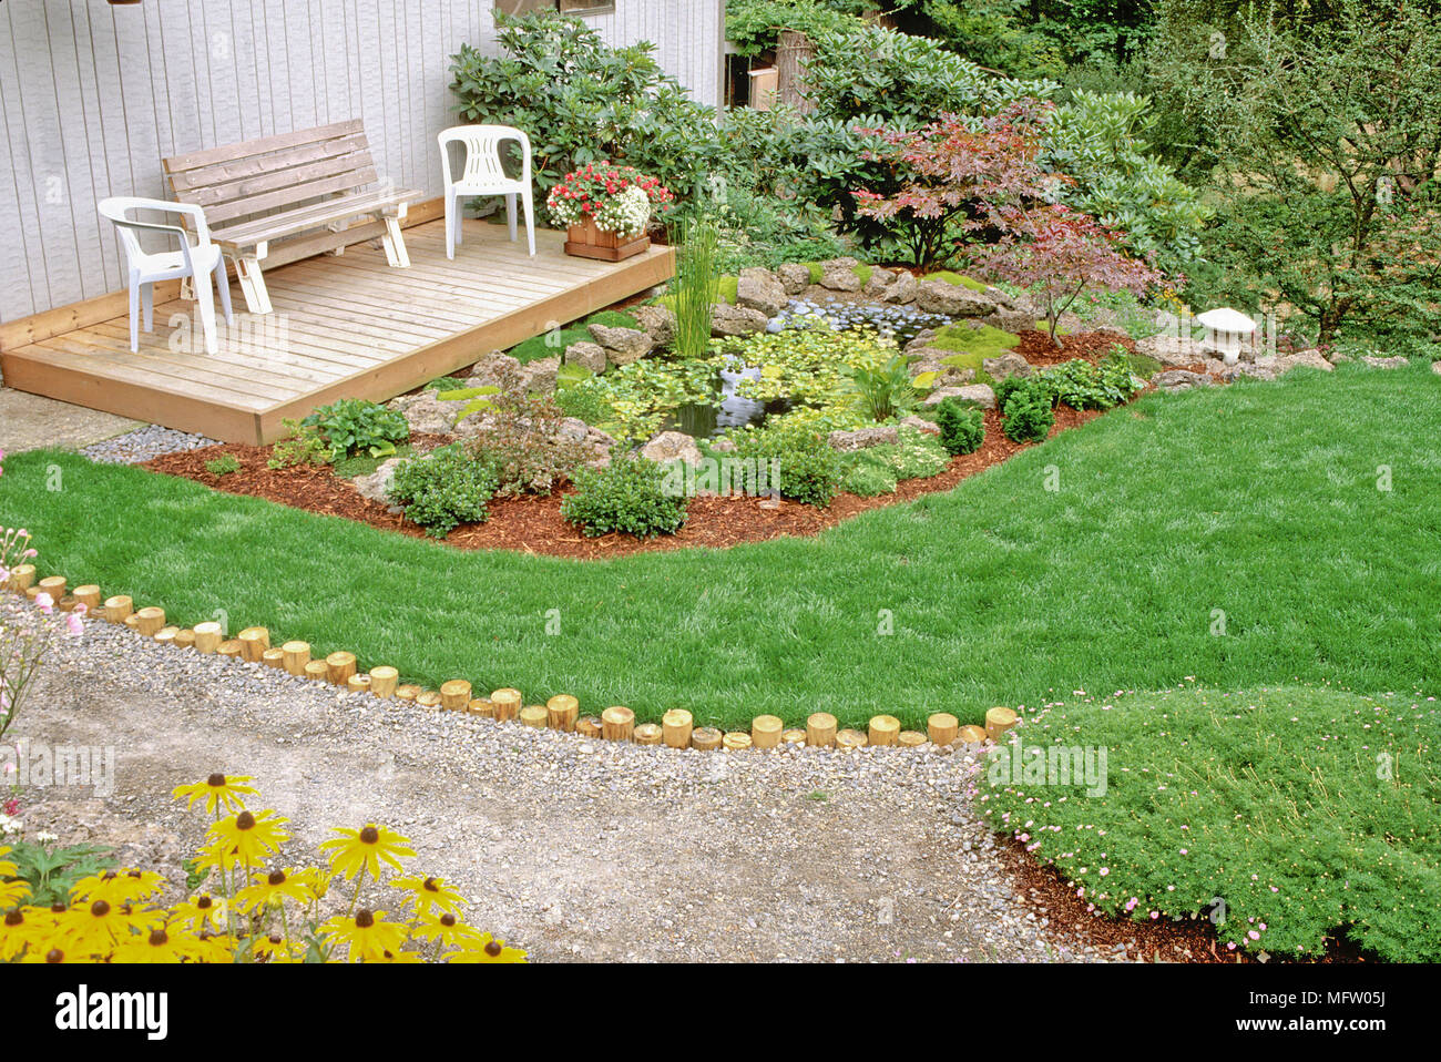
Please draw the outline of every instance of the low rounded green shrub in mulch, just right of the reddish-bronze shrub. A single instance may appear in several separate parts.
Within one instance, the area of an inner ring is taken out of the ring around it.
[[[561,516],[592,537],[621,532],[638,539],[674,535],[689,500],[672,491],[666,467],[644,457],[617,457],[605,468],[581,468]]]

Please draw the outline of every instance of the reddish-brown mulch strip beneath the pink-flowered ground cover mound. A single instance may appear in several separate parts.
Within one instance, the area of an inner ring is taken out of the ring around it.
[[[1049,918],[1056,929],[1075,932],[1081,940],[1101,952],[1111,952],[1115,945],[1125,945],[1131,960],[1143,958],[1151,963],[1259,963],[1257,952],[1226,951],[1225,937],[1218,941],[1216,929],[1209,921],[1170,918],[1131,921],[1101,911],[1087,911],[1088,901],[1076,896],[1075,889],[1065,883],[1053,866],[1038,863],[1026,852],[1026,846],[1007,834],[996,836],[996,852],[1001,865],[1016,885],[1014,902],[1020,911],[1032,912],[1038,919]],[[1225,929],[1221,931],[1225,934]],[[1120,952],[1115,952],[1120,954]],[[1327,937],[1326,951],[1311,960],[1281,955],[1268,957],[1270,963],[1375,963],[1344,937]]]

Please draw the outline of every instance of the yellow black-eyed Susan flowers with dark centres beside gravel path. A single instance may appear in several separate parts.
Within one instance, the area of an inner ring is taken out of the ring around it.
[[[375,823],[339,827],[329,866],[285,859],[288,820],[251,811],[249,777],[212,774],[174,790],[210,817],[184,898],[166,879],[102,870],[52,906],[33,899],[0,846],[0,963],[525,963],[465,922],[444,878],[406,870],[409,840]],[[197,879],[197,880],[195,880]]]

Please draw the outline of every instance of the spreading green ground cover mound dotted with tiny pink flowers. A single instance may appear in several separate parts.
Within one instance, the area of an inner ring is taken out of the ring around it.
[[[1343,929],[1385,960],[1441,961],[1435,702],[1295,686],[1063,700],[1023,745],[1072,762],[1105,748],[1105,771],[1017,781],[997,758],[980,807],[1088,902],[1148,921],[1219,898],[1222,948],[1314,955]]]

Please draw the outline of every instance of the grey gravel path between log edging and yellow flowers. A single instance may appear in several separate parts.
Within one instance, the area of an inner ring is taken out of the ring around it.
[[[22,608],[14,598],[6,610]],[[115,793],[29,788],[29,830],[183,880],[169,793],[252,774],[291,818],[382,821],[471,921],[536,960],[1099,960],[1020,903],[968,808],[964,755],[700,754],[425,712],[88,625],[12,738],[115,746]]]

